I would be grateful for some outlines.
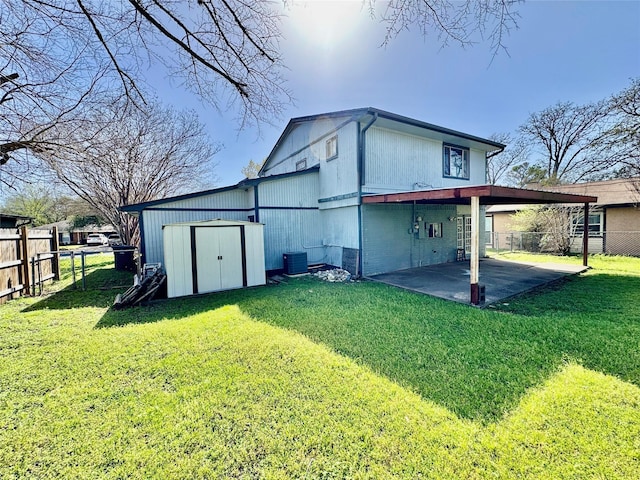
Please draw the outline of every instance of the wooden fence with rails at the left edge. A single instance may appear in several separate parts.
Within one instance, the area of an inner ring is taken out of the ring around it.
[[[0,303],[21,295],[35,295],[36,286],[60,278],[58,232],[0,229]]]

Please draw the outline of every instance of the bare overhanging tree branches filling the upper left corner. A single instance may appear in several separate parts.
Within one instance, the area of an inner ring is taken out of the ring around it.
[[[289,99],[270,2],[0,0],[0,24],[5,184],[29,169],[25,150],[63,146],[97,99],[143,105],[152,63],[215,108],[236,109],[240,126],[272,121]]]

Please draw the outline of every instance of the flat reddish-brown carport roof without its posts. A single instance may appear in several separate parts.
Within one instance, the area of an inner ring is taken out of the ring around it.
[[[497,185],[440,188],[398,193],[374,193],[362,195],[363,203],[450,203],[471,204],[472,197],[479,197],[481,205],[504,205],[512,203],[594,203],[598,197],[570,193],[544,192]]]

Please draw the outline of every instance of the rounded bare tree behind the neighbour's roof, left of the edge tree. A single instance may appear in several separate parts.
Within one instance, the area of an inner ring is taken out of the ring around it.
[[[612,169],[616,159],[598,152],[609,113],[604,101],[565,102],[529,116],[519,130],[532,144],[532,154],[538,155],[533,161],[546,171],[547,183],[589,180]]]

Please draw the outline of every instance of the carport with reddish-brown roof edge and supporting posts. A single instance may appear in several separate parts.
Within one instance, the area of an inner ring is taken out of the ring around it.
[[[469,261],[470,301],[480,303],[480,206],[525,204],[571,204],[584,205],[583,266],[588,264],[589,251],[589,204],[597,197],[568,193],[545,192],[496,185],[478,185],[473,187],[443,188],[435,190],[416,190],[411,192],[363,195],[362,203],[413,203],[434,205],[470,205],[471,206],[471,258]],[[491,286],[490,286],[491,287]]]

